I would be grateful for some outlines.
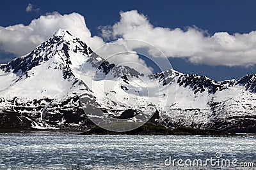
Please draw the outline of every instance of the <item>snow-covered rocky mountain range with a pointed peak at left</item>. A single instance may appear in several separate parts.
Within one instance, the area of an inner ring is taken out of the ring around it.
[[[168,127],[256,132],[256,74],[214,81],[173,69],[141,74],[116,66],[68,31],[0,65],[1,129],[88,129],[105,117],[150,118]]]

